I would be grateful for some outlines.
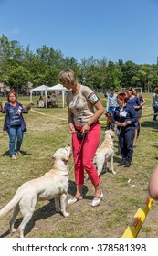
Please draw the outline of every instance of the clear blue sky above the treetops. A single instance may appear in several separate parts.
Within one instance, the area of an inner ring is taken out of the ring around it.
[[[156,64],[158,0],[0,0],[0,36],[35,52]]]

